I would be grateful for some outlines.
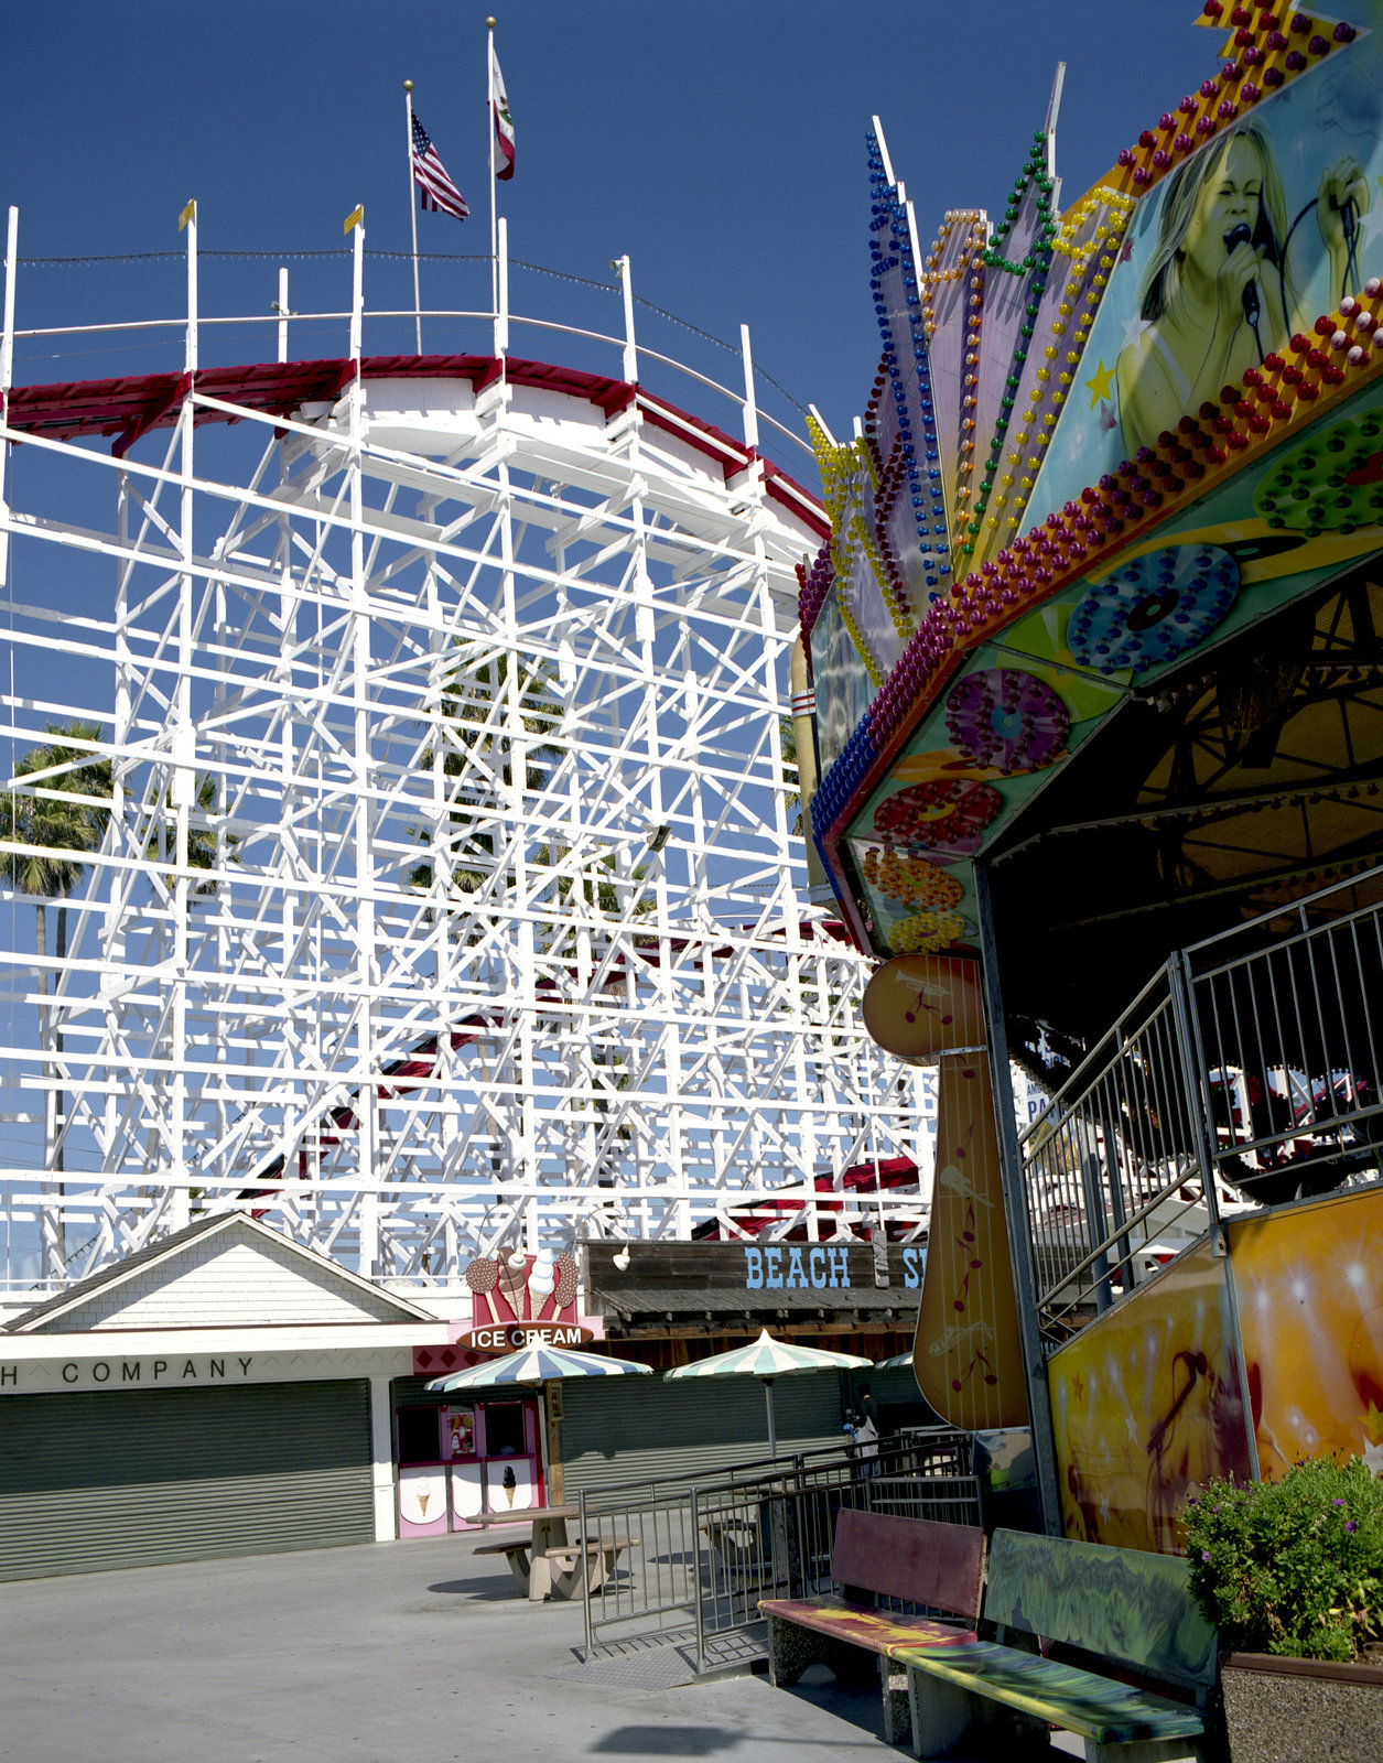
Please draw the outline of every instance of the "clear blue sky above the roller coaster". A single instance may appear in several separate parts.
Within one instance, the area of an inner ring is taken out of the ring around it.
[[[473,219],[420,215],[420,249],[489,249],[485,16],[443,0],[49,0],[5,18],[0,205],[21,254],[173,250],[196,194],[203,250],[339,249],[365,203],[369,245],[407,247],[402,81]],[[1065,197],[1208,72],[1222,37],[1196,0],[510,0],[496,44],[519,134],[503,194],[515,257],[635,291],[737,340],[827,421],[863,407],[878,338],[866,286],[864,130],[884,118],[923,240],[947,206],[1002,212],[1055,63]],[[503,187],[501,187],[503,189]],[[273,266],[206,264],[205,310],[266,310]],[[370,268],[367,303],[406,296]],[[340,263],[293,264],[295,309],[340,307]],[[425,266],[425,305],[483,305],[478,264]],[[19,324],[180,310],[176,264],[30,270]],[[617,326],[609,296],[515,273],[517,309]],[[640,317],[649,342],[690,338]],[[407,349],[411,328],[367,347]],[[344,353],[295,338],[295,354]],[[430,346],[455,346],[436,337]],[[86,346],[83,346],[86,347]],[[65,367],[21,351],[18,381],[173,365],[90,346]],[[515,353],[563,354],[531,335]],[[273,353],[272,333],[221,360]],[[727,381],[736,363],[699,356]],[[593,361],[580,365],[594,365]],[[684,402],[690,402],[686,398]],[[707,414],[716,414],[707,411]]]

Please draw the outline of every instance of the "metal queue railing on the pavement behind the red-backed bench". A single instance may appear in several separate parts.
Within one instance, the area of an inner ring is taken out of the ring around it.
[[[753,1467],[759,1474],[746,1474]],[[762,1622],[760,1597],[808,1597],[829,1585],[841,1506],[979,1523],[968,1435],[917,1433],[875,1458],[840,1449],[744,1465],[706,1484],[580,1493],[589,1560],[617,1560],[584,1588],[586,1657],[679,1641],[697,1671]]]

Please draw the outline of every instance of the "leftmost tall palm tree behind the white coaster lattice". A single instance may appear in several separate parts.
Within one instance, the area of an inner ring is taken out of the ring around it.
[[[39,1044],[44,1053],[62,1053],[62,1030],[51,1028],[48,1005],[48,901],[60,901],[56,922],[58,963],[67,956],[67,896],[86,873],[83,862],[101,848],[111,818],[111,762],[88,751],[102,730],[97,723],[49,723],[48,733],[56,739],[48,746],[30,748],[14,767],[14,777],[42,776],[30,790],[0,795],[0,837],[26,850],[0,857],[0,878],[9,887],[34,899],[34,941],[39,956]],[[74,746],[72,742],[81,742]],[[71,853],[71,855],[60,855]],[[44,1079],[51,1075],[49,1060],[42,1061]],[[60,1134],[64,1097],[44,1090],[44,1165],[56,1174],[64,1169]],[[62,1183],[58,1194],[62,1195]],[[53,1271],[65,1262],[62,1213],[58,1213],[49,1243]]]

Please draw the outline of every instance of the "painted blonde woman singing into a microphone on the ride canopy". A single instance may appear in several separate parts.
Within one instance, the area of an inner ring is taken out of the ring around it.
[[[1254,122],[1226,130],[1173,175],[1143,275],[1147,326],[1115,374],[1129,451],[1207,398],[1217,402],[1221,386],[1314,323],[1297,293],[1314,268],[1302,259],[1307,238],[1328,257],[1328,307],[1362,280],[1355,249],[1367,206],[1364,171],[1346,157],[1321,173],[1316,196],[1288,222],[1272,146]]]

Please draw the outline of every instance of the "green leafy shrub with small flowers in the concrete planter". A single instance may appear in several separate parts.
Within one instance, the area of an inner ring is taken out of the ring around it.
[[[1360,1458],[1212,1481],[1184,1516],[1191,1590],[1226,1652],[1353,1659],[1383,1636],[1383,1479]]]

